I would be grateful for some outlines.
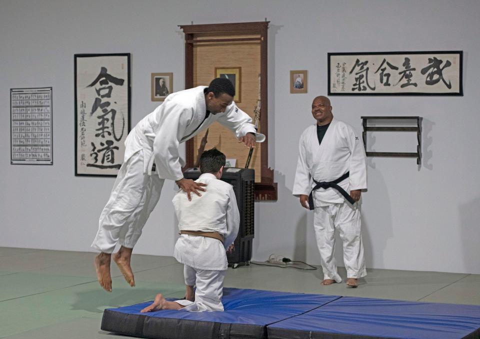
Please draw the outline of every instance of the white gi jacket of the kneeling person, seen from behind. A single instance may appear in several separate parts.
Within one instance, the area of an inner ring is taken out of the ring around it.
[[[238,233],[240,214],[233,187],[211,173],[203,173],[195,180],[205,183],[201,197],[191,194],[191,201],[183,191],[173,197],[173,206],[180,231],[217,232],[224,237],[223,244],[213,238],[180,235],[173,256],[194,269],[223,271],[227,269],[226,249]]]

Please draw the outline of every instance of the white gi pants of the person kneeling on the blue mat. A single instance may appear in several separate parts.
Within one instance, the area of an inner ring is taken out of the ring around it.
[[[189,312],[223,311],[221,297],[223,295],[224,271],[198,270],[188,265],[183,266],[185,285],[195,286],[195,301],[176,300],[184,306],[182,310]]]

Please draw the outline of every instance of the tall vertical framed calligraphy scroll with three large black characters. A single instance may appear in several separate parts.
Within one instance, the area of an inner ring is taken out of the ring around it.
[[[130,131],[130,54],[75,54],[75,176],[116,176]]]

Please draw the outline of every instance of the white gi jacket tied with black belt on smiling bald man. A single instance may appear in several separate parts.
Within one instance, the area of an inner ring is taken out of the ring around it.
[[[350,176],[338,186],[347,193],[366,189],[366,156],[361,138],[353,127],[333,120],[318,144],[316,124],[307,127],[300,136],[299,156],[293,183],[293,195],[309,195],[317,182],[333,181],[346,172]],[[334,188],[313,191],[315,207],[343,203],[345,198]]]

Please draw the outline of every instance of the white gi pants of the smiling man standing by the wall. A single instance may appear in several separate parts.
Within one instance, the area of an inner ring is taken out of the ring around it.
[[[338,229],[340,239],[343,242],[343,263],[347,278],[357,279],[366,276],[360,216],[360,202],[353,206],[345,202],[315,207],[313,227],[320,251],[323,279],[332,279],[337,283],[341,282],[333,256],[335,229]]]

